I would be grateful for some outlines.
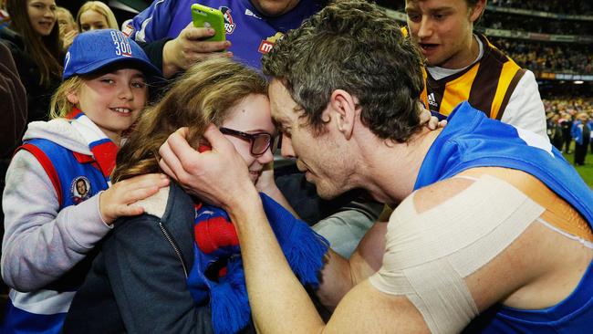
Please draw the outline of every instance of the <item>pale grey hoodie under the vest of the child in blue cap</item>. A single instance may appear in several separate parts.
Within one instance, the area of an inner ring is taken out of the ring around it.
[[[23,141],[36,138],[92,155],[67,120],[30,123]],[[24,294],[11,290],[11,301],[17,308],[36,314],[68,311],[74,292],[58,294],[39,289],[68,272],[109,232],[99,212],[99,193],[58,212],[57,193],[47,173],[30,152],[21,150],[6,172],[2,206],[2,277],[9,287],[34,291]]]

